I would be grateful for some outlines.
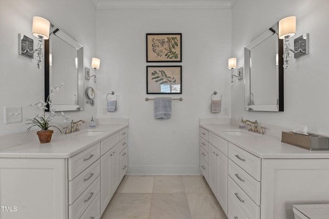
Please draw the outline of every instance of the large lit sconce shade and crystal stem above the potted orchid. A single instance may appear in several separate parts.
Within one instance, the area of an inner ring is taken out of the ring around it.
[[[44,19],[43,17],[38,17],[38,16],[33,17],[32,34],[39,39],[38,48],[33,50],[33,53],[36,52],[36,58],[38,59],[38,68],[42,68],[42,66],[40,65],[40,62],[43,59],[42,40],[49,39],[49,29],[50,29],[50,22],[48,20]]]

